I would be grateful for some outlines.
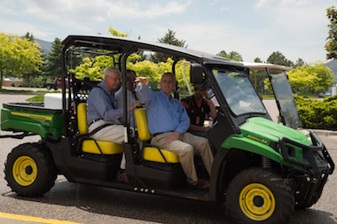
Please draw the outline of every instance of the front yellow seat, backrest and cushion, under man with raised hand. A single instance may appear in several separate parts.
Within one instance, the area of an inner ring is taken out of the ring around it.
[[[137,122],[138,137],[141,141],[148,141],[152,138],[149,128],[147,126],[146,109],[138,108],[135,110],[135,117]],[[179,163],[178,156],[172,151],[160,150],[155,147],[144,148],[144,159],[147,161],[165,163]]]

